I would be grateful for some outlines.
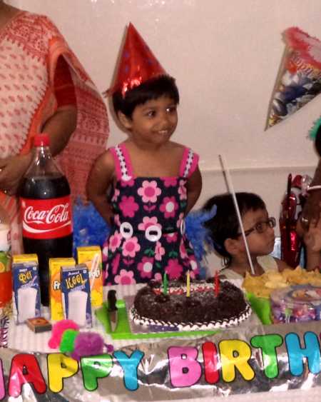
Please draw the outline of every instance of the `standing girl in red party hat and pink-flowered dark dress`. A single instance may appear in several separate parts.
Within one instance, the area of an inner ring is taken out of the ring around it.
[[[112,226],[106,283],[161,280],[165,272],[169,279],[185,271],[196,277],[184,216],[200,195],[198,155],[170,141],[178,123],[178,89],[133,25],[109,93],[128,139],[103,153],[88,179],[89,199]]]

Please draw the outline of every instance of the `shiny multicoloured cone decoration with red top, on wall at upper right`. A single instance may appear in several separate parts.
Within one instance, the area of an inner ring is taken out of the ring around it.
[[[266,128],[272,127],[321,92],[321,42],[299,28],[283,33],[285,54],[270,101]]]

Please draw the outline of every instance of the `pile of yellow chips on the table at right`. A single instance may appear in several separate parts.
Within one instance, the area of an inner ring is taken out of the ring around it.
[[[295,269],[286,268],[282,272],[266,271],[261,276],[252,276],[250,273],[246,273],[243,288],[257,297],[269,298],[270,293],[275,289],[307,284],[321,286],[321,273],[319,271],[306,271],[297,266]]]

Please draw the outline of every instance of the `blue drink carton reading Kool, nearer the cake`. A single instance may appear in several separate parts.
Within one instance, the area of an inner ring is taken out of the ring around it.
[[[75,321],[78,326],[91,327],[91,288],[84,263],[61,268],[61,291],[64,318]]]

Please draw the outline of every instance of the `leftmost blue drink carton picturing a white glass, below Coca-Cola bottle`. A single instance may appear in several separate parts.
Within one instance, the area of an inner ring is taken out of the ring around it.
[[[12,264],[14,280],[14,318],[24,323],[28,318],[40,317],[40,288],[38,263],[29,261]]]

